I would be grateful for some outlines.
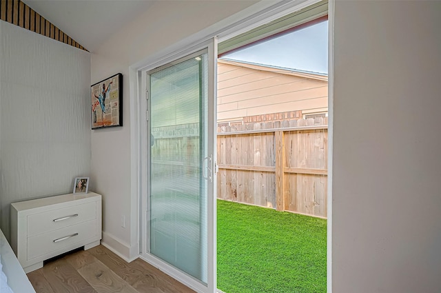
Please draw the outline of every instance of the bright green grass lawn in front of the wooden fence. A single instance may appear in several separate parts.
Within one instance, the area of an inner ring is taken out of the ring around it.
[[[326,292],[327,221],[218,200],[218,288]]]

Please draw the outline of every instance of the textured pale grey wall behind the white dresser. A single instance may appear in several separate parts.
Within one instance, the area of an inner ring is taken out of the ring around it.
[[[0,210],[90,174],[90,53],[0,21]]]

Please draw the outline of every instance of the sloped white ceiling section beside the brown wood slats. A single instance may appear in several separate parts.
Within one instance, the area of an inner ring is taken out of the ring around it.
[[[22,1],[90,52],[154,3],[153,0]]]

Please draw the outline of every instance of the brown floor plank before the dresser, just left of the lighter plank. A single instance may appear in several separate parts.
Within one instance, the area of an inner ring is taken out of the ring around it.
[[[94,288],[65,259],[47,263],[41,268],[41,272],[54,292],[96,293]]]

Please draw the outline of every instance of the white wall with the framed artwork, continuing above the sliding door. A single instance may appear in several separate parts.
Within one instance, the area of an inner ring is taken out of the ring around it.
[[[123,127],[92,131],[92,182],[103,194],[103,242],[126,259],[139,254],[136,174],[131,174],[129,66],[212,26],[252,1],[156,1],[92,54],[92,84],[123,74]],[[125,216],[126,228],[121,227]]]

